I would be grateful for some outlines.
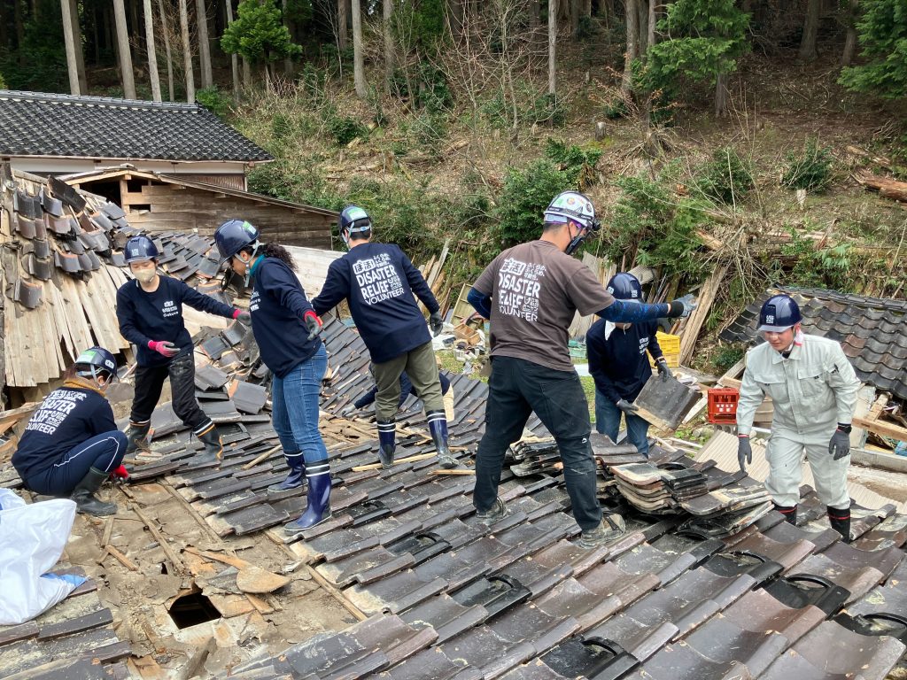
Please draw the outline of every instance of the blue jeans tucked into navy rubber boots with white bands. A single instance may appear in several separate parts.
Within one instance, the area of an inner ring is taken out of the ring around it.
[[[318,432],[321,379],[327,371],[327,351],[321,345],[309,359],[271,382],[271,423],[288,454],[302,452],[306,464],[327,461],[325,442]]]

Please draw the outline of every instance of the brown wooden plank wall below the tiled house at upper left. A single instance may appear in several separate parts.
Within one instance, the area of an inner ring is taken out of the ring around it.
[[[132,190],[129,190],[132,185]],[[149,231],[193,231],[210,235],[227,219],[247,219],[268,240],[291,246],[330,248],[335,219],[254,198],[240,198],[177,184],[121,182],[122,209],[129,223]],[[86,189],[91,190],[88,184]]]

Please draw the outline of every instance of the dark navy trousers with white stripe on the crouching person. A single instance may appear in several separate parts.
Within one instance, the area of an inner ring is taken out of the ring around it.
[[[68,496],[92,468],[110,472],[120,467],[126,444],[126,435],[119,430],[97,434],[73,446],[60,461],[29,475],[25,486],[35,493]]]

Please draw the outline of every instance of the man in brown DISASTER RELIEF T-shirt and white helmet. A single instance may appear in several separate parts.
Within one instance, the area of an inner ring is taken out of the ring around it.
[[[573,315],[579,310],[639,323],[687,316],[695,306],[685,300],[632,305],[611,296],[589,267],[571,257],[599,226],[590,200],[564,191],[545,209],[541,238],[504,250],[469,293],[476,311],[491,319],[492,335],[485,433],[475,459],[476,516],[492,523],[507,513],[497,497],[504,453],[534,411],[558,443],[584,548],[616,538],[624,524],[619,515],[602,518],[595,494],[589,405],[567,348]]]

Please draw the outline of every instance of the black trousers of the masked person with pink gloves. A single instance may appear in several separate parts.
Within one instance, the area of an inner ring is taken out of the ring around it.
[[[175,357],[162,366],[139,366],[135,369],[135,397],[132,399],[132,423],[151,421],[151,413],[161,398],[161,388],[171,380],[173,413],[196,434],[211,425],[211,419],[200,409],[195,398],[195,358],[191,352]]]

